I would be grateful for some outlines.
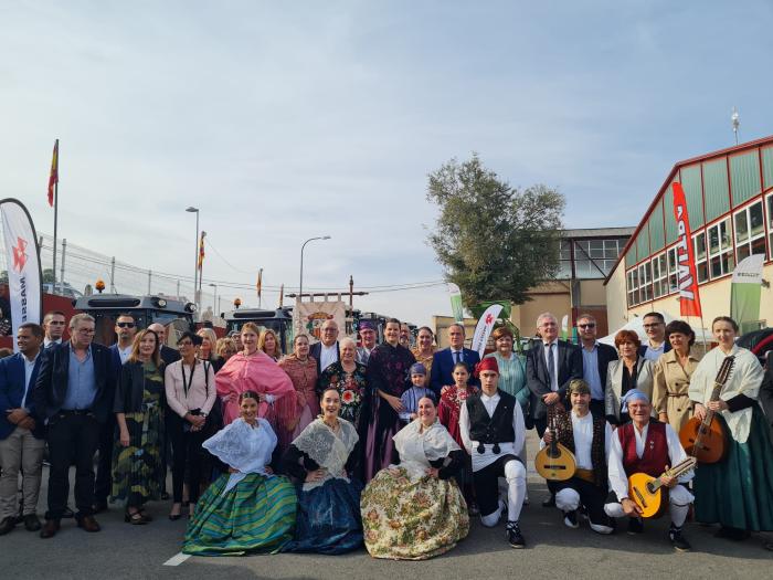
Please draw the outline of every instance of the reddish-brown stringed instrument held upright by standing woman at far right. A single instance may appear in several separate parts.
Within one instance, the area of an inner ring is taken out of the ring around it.
[[[722,361],[714,379],[711,401],[719,400],[719,393],[728,382],[733,365],[735,365],[735,357],[728,357]],[[679,431],[681,446],[685,447],[688,455],[692,455],[700,463],[717,463],[724,458],[727,451],[726,434],[722,423],[714,421],[714,411],[707,409],[702,421],[693,416]]]

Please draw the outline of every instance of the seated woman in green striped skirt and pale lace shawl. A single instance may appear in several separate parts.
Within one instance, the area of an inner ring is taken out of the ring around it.
[[[199,499],[183,553],[274,553],[293,539],[295,487],[268,466],[276,435],[268,421],[257,416],[256,392],[242,392],[239,405],[241,418],[203,443],[230,468]]]

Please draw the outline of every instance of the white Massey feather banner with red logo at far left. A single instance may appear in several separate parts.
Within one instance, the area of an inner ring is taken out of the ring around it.
[[[41,324],[43,287],[41,285],[38,235],[27,208],[15,199],[0,201],[2,233],[8,267],[8,294],[11,312],[2,313],[10,324],[13,350],[19,351],[15,329],[24,323]],[[4,308],[3,308],[4,309]]]

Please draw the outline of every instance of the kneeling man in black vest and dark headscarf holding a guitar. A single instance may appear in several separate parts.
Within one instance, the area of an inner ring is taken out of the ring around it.
[[[578,509],[584,506],[591,529],[599,534],[612,534],[613,521],[604,512],[607,496],[606,453],[612,439],[612,428],[603,418],[591,414],[591,388],[582,379],[569,383],[571,412],[557,412],[555,433],[546,430],[544,445],[553,437],[574,454],[576,471],[565,482],[553,482],[555,506],[563,512],[563,523],[578,528]]]

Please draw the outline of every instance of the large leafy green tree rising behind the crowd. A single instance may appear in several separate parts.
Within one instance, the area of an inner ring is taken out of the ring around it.
[[[440,209],[428,243],[465,306],[523,304],[529,288],[555,276],[564,208],[555,189],[512,188],[473,154],[430,173],[426,197]]]

